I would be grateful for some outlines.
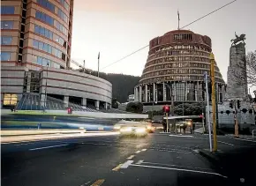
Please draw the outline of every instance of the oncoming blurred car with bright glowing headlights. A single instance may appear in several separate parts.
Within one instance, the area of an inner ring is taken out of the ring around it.
[[[147,127],[145,125],[126,125],[120,128],[121,136],[146,137]]]

